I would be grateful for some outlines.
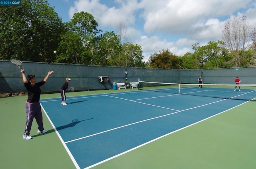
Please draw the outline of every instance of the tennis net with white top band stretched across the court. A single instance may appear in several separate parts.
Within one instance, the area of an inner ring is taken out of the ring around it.
[[[256,85],[203,84],[202,88],[200,88],[199,84],[178,84],[139,81],[138,88],[139,90],[148,90],[154,92],[166,92],[173,94],[187,94],[193,96],[256,101]]]

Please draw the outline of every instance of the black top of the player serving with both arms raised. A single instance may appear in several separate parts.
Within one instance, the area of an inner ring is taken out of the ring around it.
[[[44,85],[45,81],[41,81],[32,85],[30,83],[24,83],[24,86],[28,90],[28,100],[30,103],[37,103],[40,100],[41,89],[40,86]]]

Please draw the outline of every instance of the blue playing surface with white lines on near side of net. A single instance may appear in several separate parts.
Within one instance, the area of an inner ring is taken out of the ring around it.
[[[40,102],[76,167],[91,168],[246,100],[136,90]]]

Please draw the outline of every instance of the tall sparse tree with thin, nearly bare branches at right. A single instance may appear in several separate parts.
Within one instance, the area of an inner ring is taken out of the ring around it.
[[[236,16],[226,21],[222,31],[222,39],[228,46],[233,56],[236,67],[244,65],[246,59],[244,53],[250,44],[250,33],[252,31],[246,16]]]

